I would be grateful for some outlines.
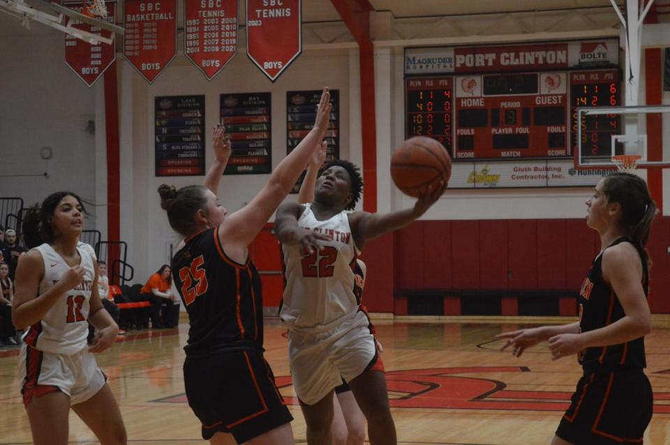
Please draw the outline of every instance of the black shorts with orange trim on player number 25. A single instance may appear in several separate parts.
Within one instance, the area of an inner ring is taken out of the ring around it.
[[[203,439],[230,432],[241,444],[293,420],[260,352],[187,356],[184,382]]]

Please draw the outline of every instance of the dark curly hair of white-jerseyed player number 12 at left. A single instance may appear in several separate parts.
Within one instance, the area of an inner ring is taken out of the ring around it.
[[[51,243],[56,238],[52,227],[54,211],[59,202],[66,197],[72,196],[82,206],[82,212],[86,213],[82,199],[75,193],[62,191],[52,193],[42,202],[42,205],[35,204],[23,212],[23,223],[21,232],[23,242],[29,249],[39,246],[42,243]]]

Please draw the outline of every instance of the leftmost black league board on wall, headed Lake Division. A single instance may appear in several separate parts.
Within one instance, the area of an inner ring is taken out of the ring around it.
[[[204,174],[204,96],[155,98],[156,176]]]

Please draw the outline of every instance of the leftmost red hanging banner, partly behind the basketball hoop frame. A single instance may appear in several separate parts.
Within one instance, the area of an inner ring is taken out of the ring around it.
[[[82,13],[84,10],[84,3],[81,1],[64,3],[64,6],[77,13]],[[114,12],[116,9],[114,6],[116,6],[116,1],[107,1],[105,2],[105,6],[107,7],[107,17],[100,20],[114,24]],[[80,22],[79,20],[70,20],[73,28],[88,31],[91,34],[98,34],[98,36],[110,37],[112,34],[110,31],[103,31],[98,27]],[[96,83],[107,68],[110,68],[116,58],[117,54],[114,51],[114,43],[111,45],[107,45],[106,43],[93,45],[68,33],[65,34],[65,62],[89,87]]]

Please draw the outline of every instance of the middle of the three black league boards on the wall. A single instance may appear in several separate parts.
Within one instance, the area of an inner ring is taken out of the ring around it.
[[[224,174],[271,172],[270,110],[270,93],[221,94],[221,122],[232,146]]]

